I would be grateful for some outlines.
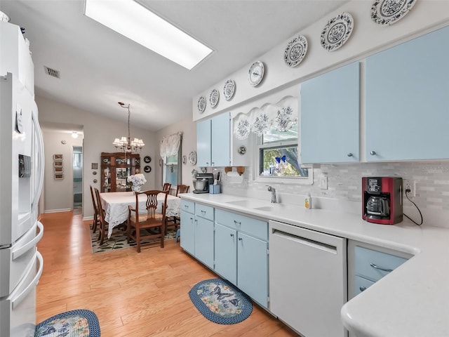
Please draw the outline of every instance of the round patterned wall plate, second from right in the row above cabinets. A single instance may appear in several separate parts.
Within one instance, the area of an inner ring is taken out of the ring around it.
[[[349,39],[354,27],[351,14],[343,12],[328,21],[321,32],[321,46],[326,51],[335,51]]]

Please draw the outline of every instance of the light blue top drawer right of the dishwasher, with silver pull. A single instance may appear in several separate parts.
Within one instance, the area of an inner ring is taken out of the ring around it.
[[[374,282],[382,279],[407,260],[359,246],[355,247],[355,256],[355,275],[366,277]]]

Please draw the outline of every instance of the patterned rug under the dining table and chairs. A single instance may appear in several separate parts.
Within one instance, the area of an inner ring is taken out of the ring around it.
[[[164,240],[175,239],[176,231],[172,228],[167,230],[167,234],[164,237]],[[98,239],[98,230],[93,233],[91,229],[91,243],[92,243],[92,253],[100,253],[102,251],[113,251],[114,249],[122,249],[128,247],[135,247],[137,244],[131,241],[129,244],[126,242],[126,233],[121,230],[116,230],[114,228],[114,232],[112,232],[111,237],[106,239],[103,244],[100,245]],[[142,241],[142,244],[149,244],[151,242],[159,242],[159,239]]]

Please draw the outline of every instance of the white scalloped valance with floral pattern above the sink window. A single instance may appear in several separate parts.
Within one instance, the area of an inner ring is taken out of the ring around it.
[[[234,117],[234,136],[246,139],[250,132],[262,136],[271,128],[277,131],[288,131],[297,124],[298,102],[293,96],[286,96],[276,104],[267,103],[262,107],[254,107],[247,113]]]

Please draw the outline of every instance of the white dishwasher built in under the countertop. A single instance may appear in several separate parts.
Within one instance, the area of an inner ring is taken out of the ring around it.
[[[269,222],[269,308],[305,337],[344,337],[346,239]]]

